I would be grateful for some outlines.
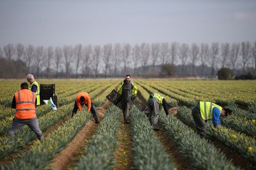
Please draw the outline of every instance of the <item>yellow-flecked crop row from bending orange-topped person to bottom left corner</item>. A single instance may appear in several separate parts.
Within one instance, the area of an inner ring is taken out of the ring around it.
[[[79,111],[67,123],[58,127],[42,142],[36,142],[22,157],[14,159],[3,169],[43,169],[54,156],[61,152],[91,117],[90,113]]]

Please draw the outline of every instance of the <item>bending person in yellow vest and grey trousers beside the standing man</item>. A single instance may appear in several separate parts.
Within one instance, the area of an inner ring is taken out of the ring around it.
[[[158,118],[159,118],[159,112],[162,109],[162,106],[164,108],[164,112],[166,116],[168,117],[168,106],[166,103],[166,100],[164,97],[160,96],[159,94],[154,94],[153,92],[150,92],[149,98],[148,98],[148,118],[150,121],[150,124],[154,127],[154,130],[158,131],[160,128],[157,125]],[[171,108],[170,111],[173,115],[177,113],[178,108]]]

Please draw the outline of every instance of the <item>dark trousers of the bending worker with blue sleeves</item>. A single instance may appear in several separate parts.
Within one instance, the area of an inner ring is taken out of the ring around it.
[[[196,132],[201,136],[205,137],[205,124],[207,121],[202,119],[200,113],[200,104],[196,104],[196,106],[192,110],[192,116],[196,126]]]

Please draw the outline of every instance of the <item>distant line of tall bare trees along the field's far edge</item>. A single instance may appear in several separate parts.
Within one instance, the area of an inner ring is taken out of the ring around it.
[[[221,67],[235,75],[256,72],[256,41],[250,43],[116,43],[99,45],[0,47],[0,78],[99,78],[216,75]]]

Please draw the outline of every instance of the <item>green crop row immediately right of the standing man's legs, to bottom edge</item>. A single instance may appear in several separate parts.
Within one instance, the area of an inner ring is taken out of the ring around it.
[[[134,169],[174,169],[145,113],[131,111],[131,136]]]

